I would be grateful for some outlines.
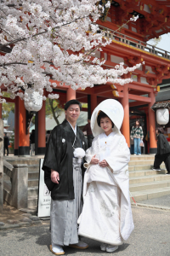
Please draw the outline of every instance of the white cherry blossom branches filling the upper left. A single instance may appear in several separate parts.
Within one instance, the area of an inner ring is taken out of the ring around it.
[[[85,89],[94,84],[129,83],[124,73],[140,67],[104,69],[104,60],[94,57],[96,49],[111,44],[105,32],[98,32],[96,21],[104,11],[98,0],[2,0],[0,3],[0,86],[11,98],[29,101],[29,93],[43,90],[51,99],[57,86]],[[106,3],[109,8],[110,2]],[[136,20],[137,18],[131,18]],[[23,92],[20,92],[23,91]]]

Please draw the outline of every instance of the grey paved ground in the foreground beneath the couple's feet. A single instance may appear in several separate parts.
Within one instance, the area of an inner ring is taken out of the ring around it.
[[[133,207],[135,230],[132,236],[110,255],[120,256],[169,256],[170,255],[170,212]],[[66,255],[108,255],[99,250],[99,242],[88,240],[89,248],[84,251],[65,247]],[[1,256],[50,256],[48,247],[50,234],[48,224],[14,230],[0,231]]]

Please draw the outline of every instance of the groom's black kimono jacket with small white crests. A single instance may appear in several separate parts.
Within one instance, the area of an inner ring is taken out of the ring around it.
[[[74,150],[72,145],[74,141],[75,133],[66,119],[62,124],[55,126],[50,134],[42,170],[44,171],[44,181],[48,190],[51,191],[53,200],[74,199],[72,166]],[[80,147],[86,150],[88,148],[87,145],[83,132],[77,127],[74,148]],[[59,172],[59,184],[51,181],[51,169]],[[85,169],[82,166],[82,177],[84,171]]]

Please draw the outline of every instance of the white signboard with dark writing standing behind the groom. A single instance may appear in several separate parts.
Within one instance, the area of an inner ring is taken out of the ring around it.
[[[42,164],[43,159],[40,160],[37,217],[48,217],[50,216],[51,208],[51,192],[49,192],[46,184],[44,183]]]

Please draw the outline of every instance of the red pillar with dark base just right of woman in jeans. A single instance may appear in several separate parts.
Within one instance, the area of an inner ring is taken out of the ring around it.
[[[149,104],[149,122],[150,122],[150,154],[156,154],[156,116],[155,112],[151,109],[153,104],[156,102],[156,97],[154,92],[150,92],[151,102]]]

